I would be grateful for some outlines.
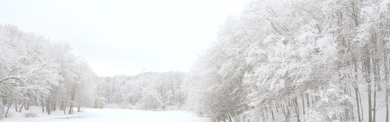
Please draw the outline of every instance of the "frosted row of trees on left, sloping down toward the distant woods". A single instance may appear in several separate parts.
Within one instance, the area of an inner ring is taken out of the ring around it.
[[[19,112],[40,106],[48,114],[91,107],[97,76],[71,49],[69,44],[0,24],[0,117],[7,117],[11,106]]]

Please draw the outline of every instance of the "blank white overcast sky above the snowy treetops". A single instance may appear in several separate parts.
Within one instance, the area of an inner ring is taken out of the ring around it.
[[[99,76],[186,72],[250,0],[0,0],[0,23],[66,41]]]

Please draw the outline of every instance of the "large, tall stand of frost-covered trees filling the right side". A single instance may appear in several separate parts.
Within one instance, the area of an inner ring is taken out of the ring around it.
[[[254,0],[186,76],[187,104],[218,122],[389,122],[389,32],[390,0]]]

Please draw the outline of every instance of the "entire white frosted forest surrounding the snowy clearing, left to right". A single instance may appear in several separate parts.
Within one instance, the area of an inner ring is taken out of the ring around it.
[[[390,0],[254,0],[217,34],[189,72],[103,77],[69,44],[0,24],[0,116],[117,105],[215,122],[389,122]]]

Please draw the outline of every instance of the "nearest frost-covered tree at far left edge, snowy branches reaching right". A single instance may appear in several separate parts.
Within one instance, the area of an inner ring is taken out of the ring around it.
[[[51,85],[56,84],[58,64],[47,56],[52,44],[43,36],[20,31],[13,25],[0,25],[2,48],[1,93],[2,104],[7,105],[26,102],[40,102],[42,96],[50,94]],[[8,95],[14,94],[16,95]],[[8,96],[8,97],[7,97]],[[32,98],[34,97],[34,98]],[[29,100],[29,99],[33,99]],[[20,111],[20,110],[19,110]]]

